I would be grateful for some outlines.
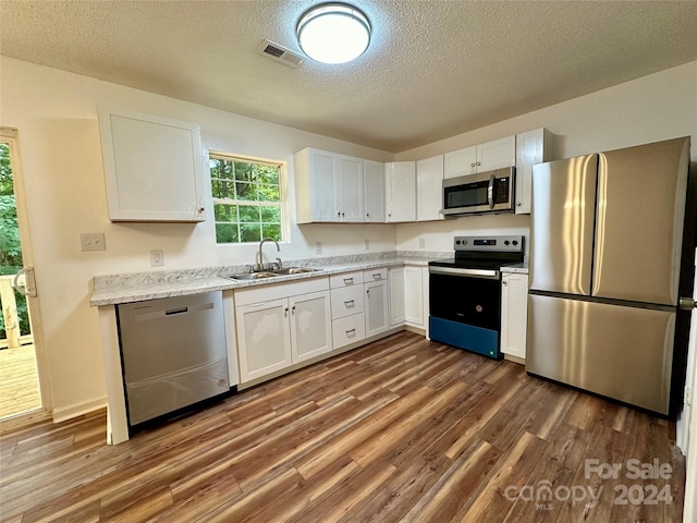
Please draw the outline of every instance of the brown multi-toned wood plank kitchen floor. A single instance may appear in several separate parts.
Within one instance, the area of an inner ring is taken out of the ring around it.
[[[682,519],[671,424],[411,332],[123,445],[103,443],[105,424],[101,412],[3,436],[1,520]],[[641,464],[652,477],[634,477]]]

